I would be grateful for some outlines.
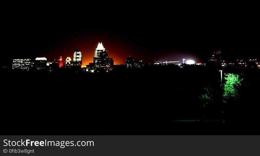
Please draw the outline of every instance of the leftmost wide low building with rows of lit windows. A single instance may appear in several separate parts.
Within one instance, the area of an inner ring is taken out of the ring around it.
[[[12,63],[13,70],[31,70],[33,67],[31,59],[14,59]]]

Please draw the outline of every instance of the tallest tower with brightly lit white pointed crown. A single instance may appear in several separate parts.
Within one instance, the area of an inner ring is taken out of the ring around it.
[[[96,70],[106,70],[110,71],[113,69],[114,60],[113,58],[109,58],[107,51],[105,50],[102,42],[98,43],[98,47],[95,50],[95,55],[93,57],[94,68]]]

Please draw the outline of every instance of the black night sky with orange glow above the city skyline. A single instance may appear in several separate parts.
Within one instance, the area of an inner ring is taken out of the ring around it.
[[[155,58],[201,62],[218,50],[227,59],[259,57],[259,11],[254,5],[131,3],[99,6],[97,11],[97,3],[85,9],[78,8],[81,4],[17,4],[3,18],[1,52],[6,59],[1,64],[14,58],[72,58],[73,49],[80,49],[83,64],[88,64],[98,42],[115,64],[124,64],[129,55],[144,63]]]

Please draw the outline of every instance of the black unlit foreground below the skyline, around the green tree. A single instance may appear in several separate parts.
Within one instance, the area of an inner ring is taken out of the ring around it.
[[[243,77],[228,104],[217,68],[5,72],[1,134],[259,134],[259,70],[225,72]],[[203,107],[205,87],[214,99]]]

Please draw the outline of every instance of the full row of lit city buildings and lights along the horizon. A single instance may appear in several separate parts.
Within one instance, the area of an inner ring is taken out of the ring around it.
[[[195,63],[194,60],[187,60],[185,58],[182,59],[182,62],[179,60],[170,60],[163,62],[154,62],[154,65],[177,65],[180,68],[184,66],[190,65],[203,65],[203,66],[220,66],[221,68],[259,68],[260,62],[258,59],[250,59],[250,60],[238,60],[237,62],[230,62],[227,60],[223,60],[223,53],[221,51],[213,52],[210,55],[208,61]],[[53,71],[58,68],[70,68],[71,70],[81,69],[84,72],[99,72],[99,71],[111,71],[114,67],[113,58],[108,57],[107,50],[103,46],[102,42],[98,42],[97,48],[95,48],[95,53],[93,57],[93,63],[89,63],[88,65],[82,65],[82,53],[79,49],[73,50],[73,60],[70,57],[66,57],[66,60],[60,56],[59,59],[54,61],[47,61],[45,57],[38,57],[35,60],[31,59],[14,59],[12,63],[13,70],[48,70]],[[126,68],[143,68],[144,62],[142,60],[134,60],[131,56],[126,58],[125,62]]]

